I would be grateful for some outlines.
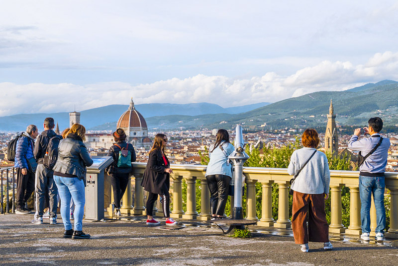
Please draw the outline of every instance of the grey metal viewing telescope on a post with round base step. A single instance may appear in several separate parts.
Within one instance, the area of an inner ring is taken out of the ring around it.
[[[224,232],[224,234],[229,233],[233,229],[244,229],[245,225],[256,224],[255,220],[247,220],[243,219],[243,207],[242,207],[242,195],[243,195],[243,164],[249,159],[249,155],[245,152],[242,127],[240,125],[236,125],[236,136],[235,136],[235,151],[229,155],[229,159],[234,164],[234,174],[233,179],[235,183],[234,188],[234,200],[233,200],[233,210],[232,210],[232,218],[219,219],[214,221],[214,223],[224,223],[229,225],[229,229]]]

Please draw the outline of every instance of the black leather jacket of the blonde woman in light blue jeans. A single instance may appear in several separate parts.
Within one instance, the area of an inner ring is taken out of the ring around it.
[[[58,159],[53,168],[55,172],[76,175],[80,180],[86,178],[86,166],[91,166],[93,159],[82,139],[69,134],[61,139],[58,146]]]

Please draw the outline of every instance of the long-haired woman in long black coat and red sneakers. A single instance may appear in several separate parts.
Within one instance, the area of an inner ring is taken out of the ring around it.
[[[167,137],[158,133],[153,141],[152,149],[149,151],[149,159],[142,178],[141,186],[148,191],[146,201],[146,213],[148,215],[147,225],[158,225],[160,222],[152,217],[153,205],[160,195],[160,202],[163,204],[163,214],[166,218],[166,225],[176,225],[177,222],[170,218],[170,163],[165,155]],[[150,215],[151,214],[151,215]]]

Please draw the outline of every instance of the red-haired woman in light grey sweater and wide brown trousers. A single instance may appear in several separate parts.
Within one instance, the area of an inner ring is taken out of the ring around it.
[[[316,150],[319,136],[314,129],[305,130],[301,141],[304,147],[293,152],[288,168],[292,176],[299,172],[291,187],[294,191],[292,228],[295,243],[301,245],[302,252],[308,252],[308,241],[323,242],[323,249],[331,250],[325,213],[325,199],[329,197],[329,165],[326,155]]]

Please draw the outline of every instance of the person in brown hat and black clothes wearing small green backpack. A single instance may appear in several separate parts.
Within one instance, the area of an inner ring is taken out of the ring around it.
[[[128,177],[133,169],[131,162],[135,162],[136,160],[134,147],[131,143],[127,143],[125,141],[126,137],[127,136],[122,129],[117,129],[115,132],[113,132],[113,139],[115,143],[109,147],[107,154],[107,156],[113,157],[113,163],[108,166],[106,171],[110,175],[110,183],[112,184],[114,200],[112,203],[112,208],[114,208],[116,216],[120,216],[120,200],[123,198],[124,192],[126,191],[129,181]],[[121,159],[119,158],[119,155],[122,149],[125,150],[125,153],[130,152],[130,162],[128,166],[122,165],[121,167],[118,167],[118,161]]]

